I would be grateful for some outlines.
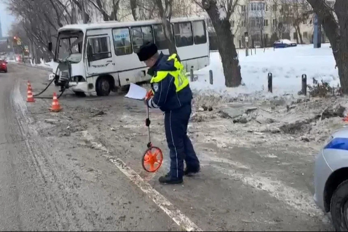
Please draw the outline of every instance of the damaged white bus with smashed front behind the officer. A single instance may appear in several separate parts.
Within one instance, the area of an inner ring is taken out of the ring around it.
[[[209,40],[205,18],[200,16],[172,18],[174,41],[181,62],[189,72],[209,65]],[[72,24],[58,30],[51,78],[68,77],[58,61],[69,61],[69,87],[75,93],[98,96],[130,83],[150,80],[147,67],[137,56],[139,47],[154,42],[159,52],[169,54],[160,20]],[[49,44],[52,50],[52,43]],[[65,73],[65,74],[64,74]]]

